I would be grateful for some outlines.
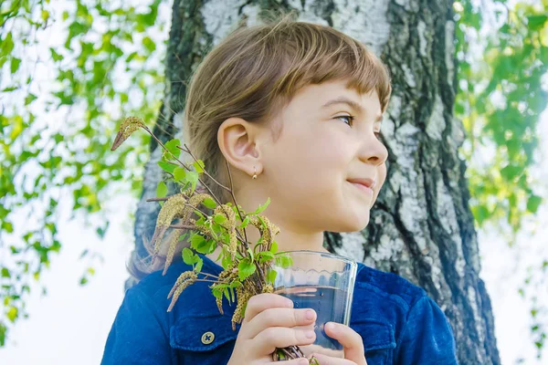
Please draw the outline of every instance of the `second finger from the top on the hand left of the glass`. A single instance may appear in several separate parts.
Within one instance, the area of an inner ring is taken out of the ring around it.
[[[269,327],[310,326],[316,320],[313,309],[268,308],[258,313],[248,322],[247,337],[253,339],[262,330]]]

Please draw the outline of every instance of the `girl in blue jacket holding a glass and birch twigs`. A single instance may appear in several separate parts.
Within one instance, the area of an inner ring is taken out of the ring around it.
[[[263,214],[280,228],[279,251],[326,252],[324,231],[369,223],[386,177],[380,130],[390,92],[385,66],[364,45],[285,17],[240,28],[205,57],[188,90],[184,140],[218,182],[228,182],[230,164],[245,211],[270,198]],[[220,273],[218,253],[200,254],[203,272]],[[275,348],[314,342],[314,311],[275,294],[251,297],[236,331],[235,306],[224,301],[221,315],[205,282],[167,312],[176,278],[192,267],[179,259],[164,276],[159,268],[126,291],[102,364],[270,364]],[[350,326],[333,325],[325,331],[344,359],[315,354],[322,365],[457,364],[448,319],[425,290],[362,263]]]

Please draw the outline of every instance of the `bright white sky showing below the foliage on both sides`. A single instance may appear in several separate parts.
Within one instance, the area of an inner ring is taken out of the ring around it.
[[[52,115],[45,117],[46,122],[53,123],[54,119]],[[539,131],[543,156],[548,156],[547,112],[542,116]],[[543,158],[537,171],[548,179],[548,159]],[[42,274],[41,285],[47,287],[47,296],[41,295],[38,286],[34,287],[26,300],[30,318],[20,320],[10,331],[5,349],[0,349],[1,364],[100,363],[128,277],[125,263],[133,245],[132,221],[128,215],[135,211],[136,201],[130,196],[119,196],[104,208],[111,212],[111,226],[100,241],[81,217],[68,219],[68,203],[59,204],[58,232],[64,245],[58,255],[52,255],[50,269]],[[25,215],[19,215],[16,226],[24,223]],[[536,351],[529,336],[530,304],[519,296],[518,289],[527,275],[527,266],[548,258],[546,204],[523,231],[513,247],[505,245],[501,236],[479,232],[480,276],[492,301],[503,365],[518,364],[520,359],[524,364],[541,363],[534,359]],[[79,255],[86,248],[100,251],[104,262],[96,266],[89,284],[81,287],[79,277],[87,266]],[[548,303],[548,293],[540,294],[540,299]],[[546,359],[548,351],[544,350]]]

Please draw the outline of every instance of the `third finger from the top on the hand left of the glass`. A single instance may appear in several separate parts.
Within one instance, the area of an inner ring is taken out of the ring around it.
[[[269,327],[251,339],[251,349],[259,356],[271,354],[276,348],[310,345],[314,343],[316,333],[313,329],[301,330],[286,327]]]

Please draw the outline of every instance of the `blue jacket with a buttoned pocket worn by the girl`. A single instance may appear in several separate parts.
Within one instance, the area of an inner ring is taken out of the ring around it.
[[[202,271],[223,269],[204,259]],[[172,264],[165,276],[156,271],[128,289],[112,324],[102,365],[227,364],[237,330],[231,318],[236,306],[216,308],[209,283],[184,289],[171,312],[168,293],[176,278],[192,269]],[[358,264],[350,327],[364,339],[368,365],[457,364],[455,339],[448,319],[427,297],[401,276]],[[244,364],[242,364],[244,365]]]

